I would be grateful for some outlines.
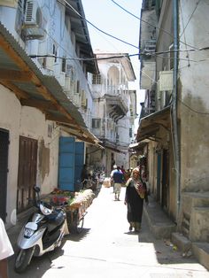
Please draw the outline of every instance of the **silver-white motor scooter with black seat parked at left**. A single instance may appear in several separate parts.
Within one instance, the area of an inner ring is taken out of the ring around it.
[[[35,212],[29,217],[18,237],[19,251],[14,269],[23,272],[33,256],[40,257],[61,245],[67,230],[66,212],[63,207],[55,208],[40,198],[40,188],[35,187]]]

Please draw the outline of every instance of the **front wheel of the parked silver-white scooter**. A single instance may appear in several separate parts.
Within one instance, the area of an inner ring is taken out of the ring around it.
[[[34,254],[34,247],[28,249],[20,249],[15,259],[14,270],[17,273],[23,272],[29,265]]]

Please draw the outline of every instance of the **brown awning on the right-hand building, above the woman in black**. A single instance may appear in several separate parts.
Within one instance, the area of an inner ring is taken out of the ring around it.
[[[164,127],[167,130],[170,130],[170,112],[171,106],[167,106],[158,112],[143,117],[139,123],[135,138],[136,141],[141,142],[144,139],[155,140],[159,127]]]

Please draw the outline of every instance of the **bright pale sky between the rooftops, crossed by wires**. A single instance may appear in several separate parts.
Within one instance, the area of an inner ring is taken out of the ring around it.
[[[139,52],[140,20],[125,12],[117,4],[140,18],[142,0],[82,0],[86,19],[90,23],[105,33],[124,41],[120,42],[109,35],[104,35],[88,24],[92,49],[136,54]],[[135,56],[131,58],[131,62],[135,71],[136,81],[130,82],[129,86],[130,89],[136,89],[137,103],[139,104],[144,98],[144,91],[139,89],[140,61]],[[140,112],[140,105],[137,105],[137,112]],[[138,123],[138,119],[136,122]]]

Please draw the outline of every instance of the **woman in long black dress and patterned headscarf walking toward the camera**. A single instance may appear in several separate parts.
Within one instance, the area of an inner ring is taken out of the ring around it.
[[[135,168],[126,183],[126,195],[124,204],[127,205],[127,219],[130,224],[129,231],[135,228],[138,233],[143,217],[143,199],[148,204],[146,183],[140,178],[139,169]]]

